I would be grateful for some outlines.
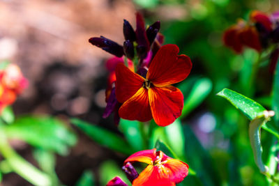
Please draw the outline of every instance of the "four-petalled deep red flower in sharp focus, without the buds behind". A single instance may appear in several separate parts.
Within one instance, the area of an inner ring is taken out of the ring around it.
[[[177,55],[179,47],[165,45],[151,61],[146,78],[125,65],[116,66],[116,99],[123,103],[119,116],[128,120],[154,121],[166,126],[181,115],[183,94],[171,86],[181,82],[192,68],[190,58]]]

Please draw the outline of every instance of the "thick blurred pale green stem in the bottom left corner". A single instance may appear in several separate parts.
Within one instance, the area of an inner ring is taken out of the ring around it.
[[[15,173],[19,174],[33,185],[51,185],[51,179],[47,174],[41,172],[35,166],[24,160],[24,158],[18,155],[15,150],[10,147],[2,129],[0,129],[0,153]]]

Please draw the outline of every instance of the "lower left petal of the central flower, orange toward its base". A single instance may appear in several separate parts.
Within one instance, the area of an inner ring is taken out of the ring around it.
[[[119,109],[119,116],[123,119],[142,122],[151,120],[152,114],[149,106],[148,90],[142,87],[132,98],[124,102]]]

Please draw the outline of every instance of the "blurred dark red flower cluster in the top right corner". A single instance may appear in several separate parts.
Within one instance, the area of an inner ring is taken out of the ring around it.
[[[259,53],[271,47],[270,69],[273,72],[279,56],[279,13],[269,16],[258,10],[252,11],[248,22],[240,19],[225,31],[223,42],[238,54],[243,52],[244,47]]]

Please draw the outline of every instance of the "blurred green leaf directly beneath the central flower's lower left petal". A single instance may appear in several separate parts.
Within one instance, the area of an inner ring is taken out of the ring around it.
[[[119,128],[126,137],[128,143],[135,151],[144,150],[144,139],[140,133],[139,121],[128,121],[121,119]]]

